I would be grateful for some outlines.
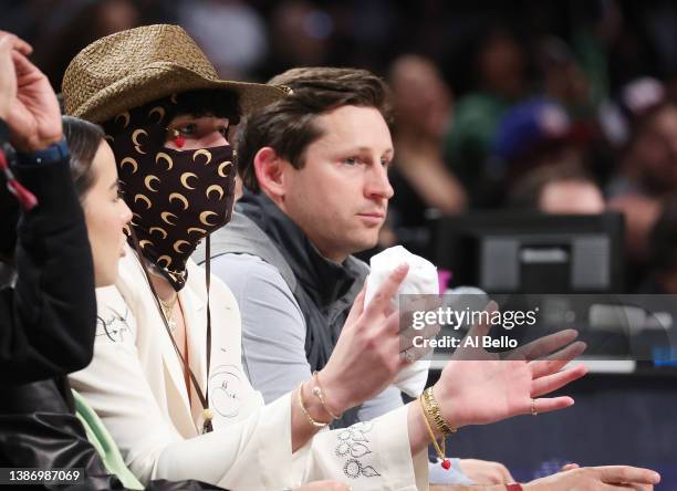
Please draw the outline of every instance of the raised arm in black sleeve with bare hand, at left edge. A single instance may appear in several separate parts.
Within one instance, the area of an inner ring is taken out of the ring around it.
[[[62,140],[56,96],[27,58],[30,46],[0,31],[10,49],[17,92],[6,123],[19,152],[15,177],[38,199],[17,230],[17,283],[6,289],[0,383],[65,375],[92,358],[96,303],[82,209]],[[61,142],[61,143],[60,143]]]

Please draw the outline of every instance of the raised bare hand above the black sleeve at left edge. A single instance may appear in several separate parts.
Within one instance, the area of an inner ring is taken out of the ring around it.
[[[17,93],[6,116],[10,143],[20,152],[46,148],[63,137],[56,95],[46,76],[28,60],[28,43],[4,31],[0,31],[0,42],[12,46],[17,79]]]

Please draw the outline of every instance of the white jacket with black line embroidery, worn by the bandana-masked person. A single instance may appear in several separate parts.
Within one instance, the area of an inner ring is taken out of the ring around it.
[[[427,452],[412,458],[407,409],[369,422],[321,431],[291,451],[290,395],[263,405],[241,366],[240,313],[230,290],[211,278],[211,369],[206,368],[205,271],[189,261],[179,302],[190,366],[209,379],[215,431],[200,435],[202,410],[191,404],[178,355],[136,253],[126,248],[115,286],[97,289],[94,359],[71,376],[142,482],[198,479],[230,490],[281,490],[335,479],[354,490],[427,489]],[[274,328],[274,326],[270,326]]]

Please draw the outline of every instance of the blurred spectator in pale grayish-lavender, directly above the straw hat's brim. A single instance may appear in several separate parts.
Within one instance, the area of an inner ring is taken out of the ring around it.
[[[221,77],[244,79],[267,55],[265,22],[246,2],[184,0],[178,4],[178,21]]]

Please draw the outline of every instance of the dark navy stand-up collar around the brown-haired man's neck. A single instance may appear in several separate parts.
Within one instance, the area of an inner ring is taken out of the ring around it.
[[[246,190],[236,209],[271,238],[300,285],[319,306],[331,305],[360,279],[355,258],[338,263],[323,257],[301,228],[264,194]]]

